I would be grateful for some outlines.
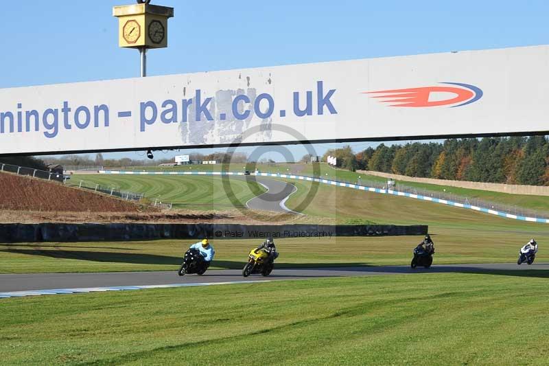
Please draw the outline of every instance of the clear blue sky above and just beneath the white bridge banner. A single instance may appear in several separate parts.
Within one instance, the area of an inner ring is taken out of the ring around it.
[[[135,1],[3,1],[0,88],[139,76],[138,52],[119,49],[112,16],[128,3]],[[174,7],[175,17],[170,47],[149,54],[149,76],[549,43],[549,1],[541,0],[152,3]]]

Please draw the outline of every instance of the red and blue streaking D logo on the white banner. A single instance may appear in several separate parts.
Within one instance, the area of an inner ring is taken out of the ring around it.
[[[431,107],[431,106],[465,106],[482,98],[482,89],[461,82],[441,82],[452,87],[421,87],[409,89],[393,89],[382,91],[366,91],[371,98],[379,98],[380,102],[392,103],[390,106]],[[443,95],[443,99],[430,100],[431,93]]]

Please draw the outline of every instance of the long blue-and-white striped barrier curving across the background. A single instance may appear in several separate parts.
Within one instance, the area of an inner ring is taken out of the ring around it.
[[[102,170],[100,173],[103,174],[172,174],[172,175],[244,175],[244,173],[241,172],[121,172],[116,170]],[[530,221],[530,222],[543,222],[545,224],[549,224],[549,218],[537,218],[537,217],[528,217],[528,216],[519,216],[519,215],[513,215],[508,214],[506,212],[497,211],[495,209],[489,209],[485,207],[478,207],[474,205],[465,205],[464,203],[458,203],[448,200],[443,200],[439,198],[433,198],[428,196],[422,196],[421,194],[411,194],[408,192],[399,192],[395,190],[383,190],[380,188],[372,188],[372,187],[365,187],[364,185],[358,185],[358,184],[352,184],[352,183],[343,183],[338,181],[329,181],[328,179],[320,179],[320,178],[313,178],[312,176],[301,176],[301,175],[294,175],[294,174],[279,174],[279,173],[257,173],[253,174],[256,176],[272,176],[275,178],[284,178],[284,179],[296,179],[299,181],[314,181],[318,183],[324,183],[329,185],[336,185],[338,187],[349,187],[353,188],[355,190],[361,190],[361,191],[368,191],[368,192],[375,192],[375,193],[381,193],[381,194],[393,194],[395,196],[403,196],[403,197],[409,197],[409,198],[416,198],[418,200],[422,201],[431,201],[434,203],[442,203],[443,205],[449,205],[454,207],[460,207],[464,209],[473,209],[475,211],[485,212],[487,214],[497,215],[504,218],[513,218],[514,220],[523,220],[523,221]]]

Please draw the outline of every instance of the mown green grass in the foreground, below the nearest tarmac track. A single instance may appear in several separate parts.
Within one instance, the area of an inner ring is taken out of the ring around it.
[[[521,275],[528,277],[387,275],[3,299],[0,359],[546,365],[548,274]]]

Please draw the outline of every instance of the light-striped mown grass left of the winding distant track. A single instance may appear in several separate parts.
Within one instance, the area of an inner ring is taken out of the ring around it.
[[[217,176],[148,176],[148,175],[110,175],[110,174],[76,174],[70,183],[95,187],[116,187],[122,191],[145,194],[145,197],[158,199],[164,203],[173,203],[174,208],[189,209],[231,209],[235,207],[224,190],[222,179]],[[238,202],[245,203],[266,189],[243,179],[230,179],[232,194]]]

